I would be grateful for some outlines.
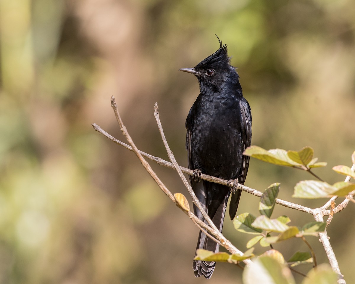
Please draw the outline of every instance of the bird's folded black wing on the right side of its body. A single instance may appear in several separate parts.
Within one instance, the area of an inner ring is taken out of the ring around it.
[[[240,112],[241,112],[241,138],[243,152],[251,145],[251,111],[249,103],[246,100],[240,102]],[[242,165],[238,173],[238,181],[240,184],[244,184],[246,175],[249,168],[249,156],[242,155]],[[235,194],[232,195],[229,204],[229,217],[231,220],[234,219],[237,213],[237,208],[239,204],[241,190],[237,190]]]

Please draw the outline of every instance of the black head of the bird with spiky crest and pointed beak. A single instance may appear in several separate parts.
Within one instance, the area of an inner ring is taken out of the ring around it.
[[[218,41],[220,48],[215,53],[203,59],[193,68],[179,69],[195,75],[200,83],[201,90],[212,88],[218,91],[226,81],[237,80],[238,78],[235,68],[230,65],[227,45],[223,45],[219,38]]]

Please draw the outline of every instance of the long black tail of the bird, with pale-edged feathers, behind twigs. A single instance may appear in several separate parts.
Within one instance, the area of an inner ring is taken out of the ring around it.
[[[220,232],[222,232],[223,228],[223,220],[227,207],[227,202],[228,195],[225,196],[224,200],[222,201],[222,203],[220,203],[219,207],[217,208],[217,211],[212,217],[212,222],[216,225]],[[206,220],[204,222],[207,224]],[[200,234],[198,235],[196,250],[198,249],[204,249],[217,253],[219,251],[219,244],[211,240],[208,236],[206,236],[206,234],[200,231]],[[212,276],[215,265],[216,263],[214,261],[194,260],[192,263],[192,268],[195,271],[196,277],[200,277],[203,275],[204,278],[209,279]]]

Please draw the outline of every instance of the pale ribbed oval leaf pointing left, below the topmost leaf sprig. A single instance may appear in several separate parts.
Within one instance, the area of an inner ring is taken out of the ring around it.
[[[323,198],[329,197],[335,188],[327,182],[318,180],[302,180],[296,184],[292,197],[299,198]]]

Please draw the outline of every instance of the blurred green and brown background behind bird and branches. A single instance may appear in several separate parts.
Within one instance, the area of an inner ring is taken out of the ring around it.
[[[192,258],[198,229],[144,171],[136,156],[91,126],[124,141],[114,95],[138,148],[168,159],[153,117],[186,166],[185,119],[199,90],[179,72],[228,44],[253,115],[252,144],[315,149],[329,183],[332,166],[355,150],[355,2],[351,0],[2,0],[0,1],[0,283],[204,283]],[[175,171],[153,169],[172,192],[187,191]],[[251,160],[246,185],[281,182],[292,198],[301,171]],[[238,214],[258,214],[242,194]],[[338,201],[338,203],[341,200]],[[353,275],[354,204],[328,235],[345,278]],[[276,206],[292,225],[311,215]],[[240,250],[252,237],[226,218]],[[318,263],[321,243],[309,237]],[[300,240],[274,246],[291,257]],[[259,245],[256,253],[264,251]],[[311,266],[300,267],[307,272]],[[218,263],[212,283],[241,283]],[[299,281],[301,278],[295,276]]]

